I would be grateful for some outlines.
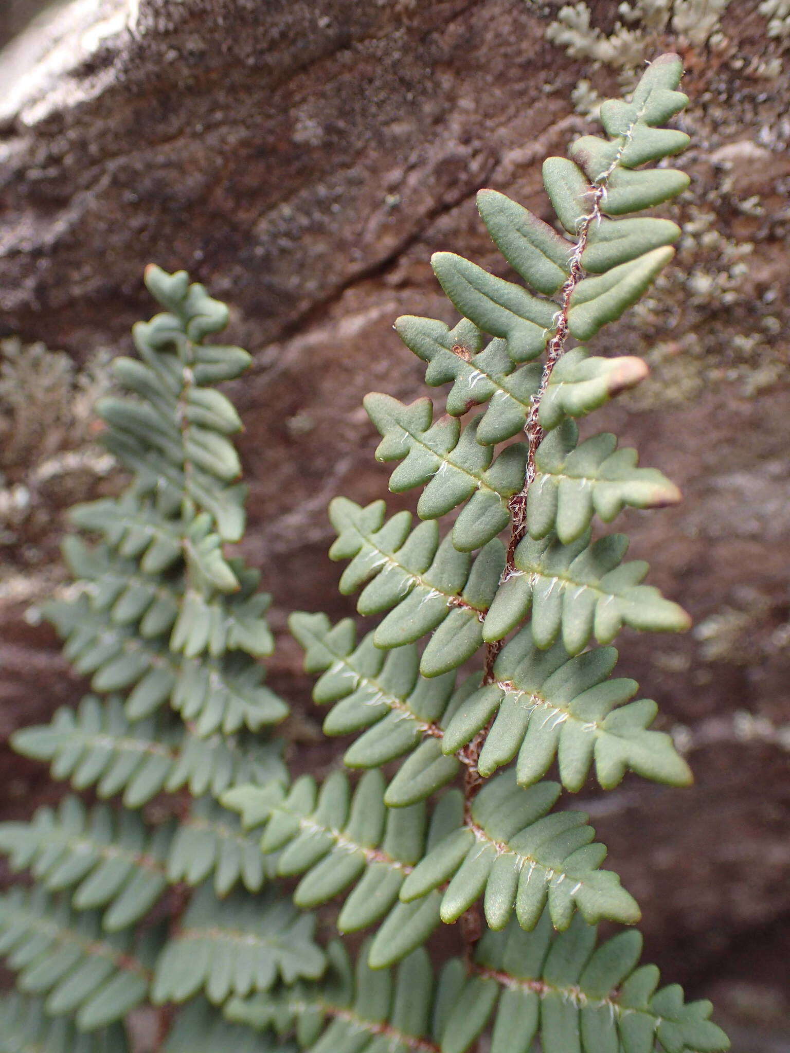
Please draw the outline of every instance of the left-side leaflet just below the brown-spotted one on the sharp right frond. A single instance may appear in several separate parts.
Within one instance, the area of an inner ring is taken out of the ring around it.
[[[452,533],[461,552],[481,548],[505,530],[510,522],[508,499],[524,483],[524,442],[506,446],[494,459],[493,449],[477,441],[480,416],[462,429],[455,417],[434,421],[430,399],[404,405],[375,392],[366,395],[364,408],[383,436],[376,459],[402,461],[390,476],[390,490],[400,494],[424,488],[417,501],[420,519],[436,519],[467,501]]]

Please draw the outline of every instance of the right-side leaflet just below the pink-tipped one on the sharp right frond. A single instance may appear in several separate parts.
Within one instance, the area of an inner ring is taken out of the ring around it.
[[[559,365],[554,373],[557,370]],[[611,522],[625,505],[660,509],[679,501],[674,483],[655,469],[637,468],[635,450],[616,446],[615,437],[606,432],[579,444],[572,420],[546,436],[535,454],[535,479],[527,494],[531,537],[556,530],[567,544],[589,528],[595,513]]]

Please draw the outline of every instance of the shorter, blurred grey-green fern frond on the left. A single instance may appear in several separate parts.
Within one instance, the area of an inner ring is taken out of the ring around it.
[[[21,992],[0,1044],[15,1053],[122,1053],[129,1012],[163,1000],[185,1006],[165,1010],[170,1053],[196,1049],[198,1033],[266,1053],[269,1039],[223,1021],[202,993],[221,1005],[324,967],[315,918],[273,890],[274,861],[219,803],[239,781],[287,779],[266,734],[288,713],[263,682],[269,597],[224,552],[243,531],[241,423],[214,384],[250,356],[210,342],[228,311],[183,272],[150,267],[146,283],[165,310],[135,326],[140,359],[114,363],[125,394],[99,403],[131,481],[73,510],[83,537],[64,557],[78,588],[44,609],[92,694],[14,738],[105,801],[70,794],[0,824],[12,868],[37,885],[0,899]]]

